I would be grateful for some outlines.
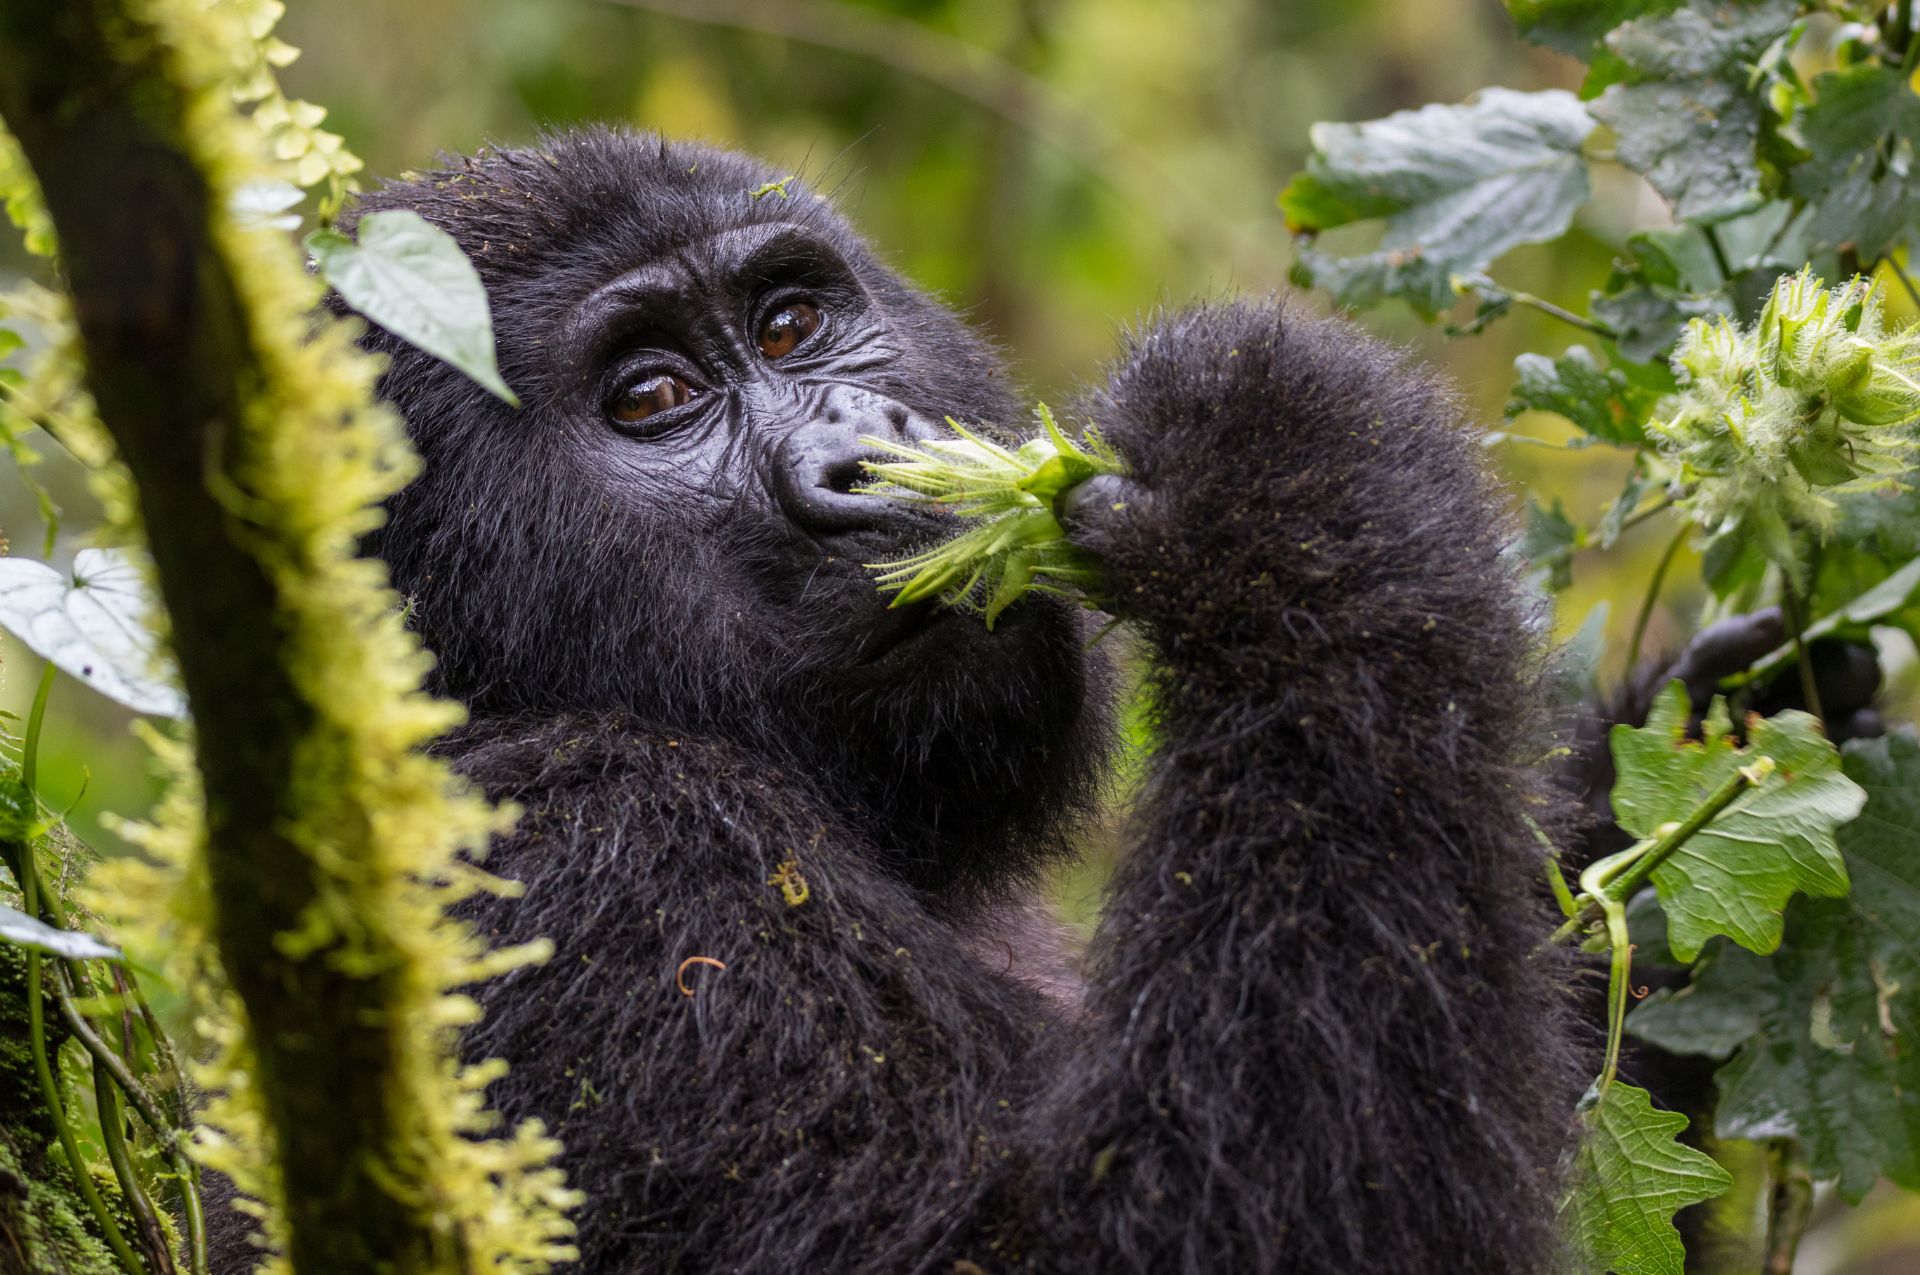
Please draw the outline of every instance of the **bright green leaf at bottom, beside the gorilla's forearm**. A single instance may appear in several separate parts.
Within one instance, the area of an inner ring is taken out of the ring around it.
[[[1732,1189],[1713,1156],[1674,1135],[1686,1116],[1655,1110],[1645,1089],[1615,1081],[1580,1116],[1572,1191],[1561,1206],[1592,1271],[1682,1275],[1686,1250],[1672,1215]]]

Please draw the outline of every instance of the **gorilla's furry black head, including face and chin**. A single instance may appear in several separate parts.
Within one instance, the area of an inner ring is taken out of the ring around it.
[[[816,774],[916,883],[1018,878],[1100,770],[1083,626],[1044,597],[993,636],[889,609],[862,565],[941,518],[852,488],[862,434],[1021,409],[987,344],[780,177],[595,131],[365,198],[467,250],[524,403],[372,332],[424,472],[369,547],[434,689],[478,714],[745,739]]]

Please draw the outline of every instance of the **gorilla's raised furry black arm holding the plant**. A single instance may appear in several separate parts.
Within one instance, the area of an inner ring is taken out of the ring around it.
[[[1160,737],[1039,1233],[1140,1271],[1546,1269],[1578,1083],[1475,440],[1277,305],[1146,332],[1081,415],[1133,467],[1068,515],[1152,643]]]

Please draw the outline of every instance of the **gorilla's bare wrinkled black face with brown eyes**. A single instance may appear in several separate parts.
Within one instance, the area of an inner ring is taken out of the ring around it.
[[[860,438],[931,438],[945,409],[889,384],[899,338],[828,238],[755,225],[641,263],[566,315],[555,357],[584,482],[728,547],[684,601],[751,616],[728,638],[741,657],[755,643],[781,680],[887,687],[958,670],[962,649],[1012,655],[1018,639],[952,613],[889,609],[862,568],[945,518],[858,493]]]

